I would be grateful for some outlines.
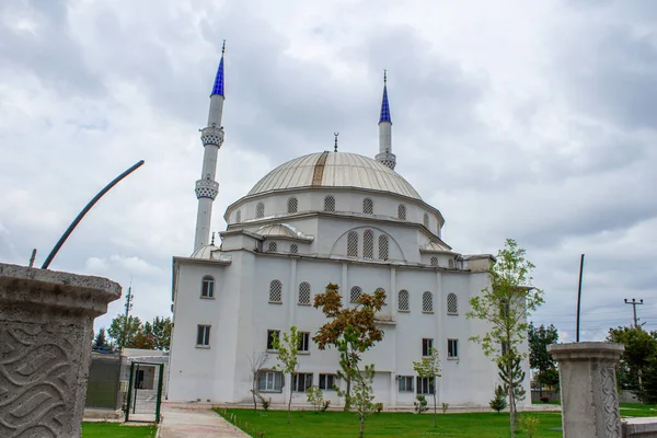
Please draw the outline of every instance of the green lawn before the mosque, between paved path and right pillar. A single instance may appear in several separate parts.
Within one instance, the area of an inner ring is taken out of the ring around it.
[[[287,424],[286,411],[249,410],[217,410],[220,415],[232,418],[249,434],[257,437],[265,433],[265,438],[343,438],[358,437],[358,417],[354,413],[325,412],[292,412],[292,422]],[[550,430],[561,426],[560,413],[532,413],[540,418],[539,436],[561,437],[560,430]],[[438,414],[438,427],[434,428],[431,415],[415,415],[412,413],[381,413],[369,416],[365,423],[366,437],[473,437],[502,438],[508,437],[508,413],[476,413],[476,414]],[[523,437],[518,434],[518,437]]]

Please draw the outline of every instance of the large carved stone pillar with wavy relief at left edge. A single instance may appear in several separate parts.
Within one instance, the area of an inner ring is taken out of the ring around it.
[[[79,438],[106,278],[0,263],[0,437]]]

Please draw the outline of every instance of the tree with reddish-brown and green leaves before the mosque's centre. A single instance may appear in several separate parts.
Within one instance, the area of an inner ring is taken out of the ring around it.
[[[328,321],[320,327],[313,341],[319,349],[334,346],[339,353],[337,377],[345,381],[345,411],[351,404],[351,381],[358,369],[360,355],[383,339],[383,331],[374,324],[374,314],[385,302],[385,293],[377,290],[373,295],[362,293],[355,308],[344,309],[337,285],[328,284],[326,291],[315,296],[314,308],[321,309]]]

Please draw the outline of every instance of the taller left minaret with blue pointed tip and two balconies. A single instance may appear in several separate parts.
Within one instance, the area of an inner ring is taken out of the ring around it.
[[[194,251],[207,245],[210,239],[210,220],[212,218],[212,203],[219,193],[219,184],[215,181],[217,173],[217,153],[223,143],[223,127],[221,113],[223,112],[223,54],[226,41],[221,48],[221,60],[217,70],[217,78],[210,94],[210,111],[208,126],[200,129],[200,140],[205,149],[203,155],[203,171],[200,180],[196,182],[196,198],[198,199],[198,214],[196,216],[196,235]]]

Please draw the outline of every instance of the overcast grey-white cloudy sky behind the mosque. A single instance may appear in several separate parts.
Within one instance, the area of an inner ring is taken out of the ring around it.
[[[461,253],[527,249],[545,304],[583,339],[657,328],[657,2],[0,2],[0,262],[37,265],[117,174],[50,266],[132,285],[170,315],[173,255],[193,250],[194,182],[227,39],[226,142],[212,228],[276,165],[373,157],[389,72],[396,171]],[[96,320],[107,326],[123,300]]]

